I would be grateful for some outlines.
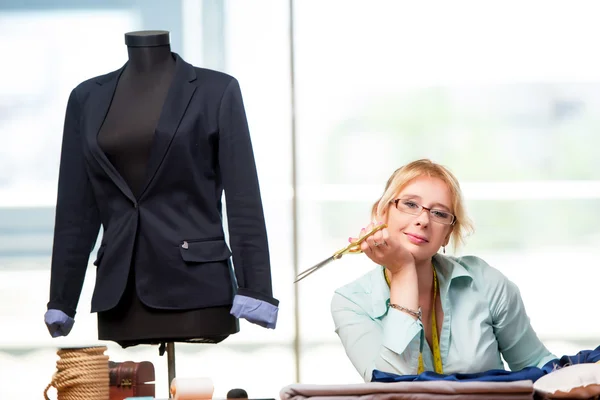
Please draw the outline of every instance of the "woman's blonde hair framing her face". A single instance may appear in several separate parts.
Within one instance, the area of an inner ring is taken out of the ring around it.
[[[454,174],[446,167],[436,164],[431,160],[416,160],[394,171],[385,185],[383,196],[373,204],[371,218],[375,220],[377,216],[383,215],[386,207],[390,206],[398,193],[413,180],[422,176],[439,178],[448,185],[448,189],[450,189],[450,194],[452,196],[452,213],[456,217],[450,238],[452,247],[456,250],[459,245],[464,244],[466,236],[473,232],[473,224],[467,216],[458,179],[456,179]]]

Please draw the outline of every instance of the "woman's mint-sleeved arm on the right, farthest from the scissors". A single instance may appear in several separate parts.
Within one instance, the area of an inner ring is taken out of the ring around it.
[[[510,369],[541,367],[554,359],[533,330],[517,285],[493,268],[489,272],[494,275],[487,280],[494,333]]]

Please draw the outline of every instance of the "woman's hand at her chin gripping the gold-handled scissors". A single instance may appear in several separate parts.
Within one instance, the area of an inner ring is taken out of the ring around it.
[[[375,226],[381,224],[383,224],[383,222],[377,224],[370,223],[366,228],[361,229],[358,238],[363,237]],[[348,240],[353,242],[358,239],[349,238]],[[383,265],[387,268],[392,275],[405,268],[415,268],[415,258],[413,255],[402,247],[397,239],[390,236],[388,228],[377,231],[368,237],[361,243],[360,249],[367,257],[373,260],[374,263]]]

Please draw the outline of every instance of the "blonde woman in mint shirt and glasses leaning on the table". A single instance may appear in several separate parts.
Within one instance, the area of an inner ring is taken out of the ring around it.
[[[502,355],[515,371],[555,358],[514,283],[480,258],[438,253],[470,230],[445,167],[418,160],[396,170],[372,217],[387,228],[361,249],[378,266],[336,290],[331,303],[336,333],[366,382],[374,369],[474,373],[503,369]]]

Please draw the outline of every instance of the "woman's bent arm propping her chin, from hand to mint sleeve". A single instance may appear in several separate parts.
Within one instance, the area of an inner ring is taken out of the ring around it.
[[[359,237],[374,226],[371,223],[363,228]],[[335,331],[365,382],[371,381],[374,369],[415,374],[424,341],[423,324],[416,317],[389,307],[392,303],[414,311],[419,308],[415,259],[397,238],[390,236],[387,228],[368,237],[361,250],[377,265],[385,265],[390,274],[389,293],[355,285],[336,291],[331,302]],[[374,312],[374,308],[378,311]]]

